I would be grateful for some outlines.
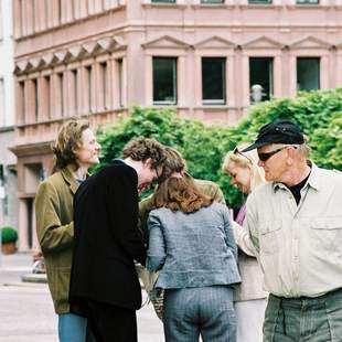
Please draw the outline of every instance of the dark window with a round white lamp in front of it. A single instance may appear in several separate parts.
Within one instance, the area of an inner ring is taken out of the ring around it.
[[[249,58],[250,103],[270,99],[274,93],[274,60],[270,57]]]

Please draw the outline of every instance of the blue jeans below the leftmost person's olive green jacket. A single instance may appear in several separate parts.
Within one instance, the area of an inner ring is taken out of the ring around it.
[[[85,342],[87,319],[74,313],[58,314],[60,342]]]

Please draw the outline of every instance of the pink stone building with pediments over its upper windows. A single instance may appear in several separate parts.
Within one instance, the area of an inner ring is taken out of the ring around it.
[[[253,103],[342,85],[342,0],[13,0],[20,248],[68,117],[133,105],[234,125]]]

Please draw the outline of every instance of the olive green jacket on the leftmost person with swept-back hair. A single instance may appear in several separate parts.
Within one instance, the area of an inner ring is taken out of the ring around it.
[[[57,314],[70,312],[68,288],[74,239],[73,199],[77,188],[78,183],[72,172],[65,168],[42,182],[35,195],[36,234]]]

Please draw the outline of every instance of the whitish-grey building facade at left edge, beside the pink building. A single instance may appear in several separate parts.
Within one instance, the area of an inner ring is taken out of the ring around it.
[[[12,3],[0,1],[0,226],[18,228],[17,158],[9,150],[15,133]]]

